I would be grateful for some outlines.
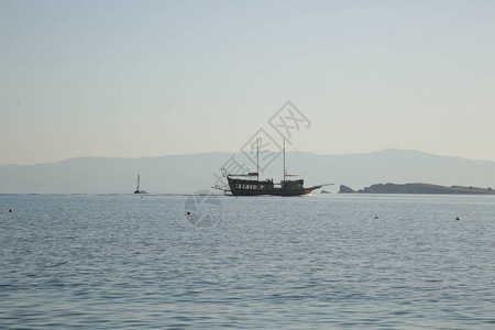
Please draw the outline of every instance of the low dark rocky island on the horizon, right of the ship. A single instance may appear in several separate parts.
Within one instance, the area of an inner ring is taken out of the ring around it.
[[[430,184],[377,184],[354,190],[341,185],[339,194],[455,194],[455,195],[495,195],[492,188],[438,186]]]

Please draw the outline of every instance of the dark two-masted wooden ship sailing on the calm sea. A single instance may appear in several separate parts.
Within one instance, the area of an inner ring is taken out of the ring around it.
[[[288,175],[285,169],[285,140],[283,147],[284,155],[284,179],[279,183],[274,183],[273,179],[260,180],[260,140],[257,140],[257,172],[249,173],[249,174],[227,174],[227,180],[229,183],[229,189],[222,189],[218,187],[213,187],[217,189],[221,189],[224,193],[231,193],[233,196],[260,196],[260,195],[273,195],[273,196],[300,196],[311,194],[312,190],[319,189],[322,186],[327,185],[318,185],[312,187],[304,187],[302,179],[288,180],[286,179]],[[249,177],[249,178],[246,178]]]

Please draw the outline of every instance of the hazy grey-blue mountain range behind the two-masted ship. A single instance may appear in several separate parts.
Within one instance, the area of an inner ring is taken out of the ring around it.
[[[233,158],[232,158],[233,157]],[[210,189],[229,160],[255,170],[241,153],[204,153],[146,158],[72,158],[53,164],[0,166],[0,194],[132,194],[138,174],[148,193],[194,193]],[[232,163],[232,162],[231,162]],[[354,189],[378,183],[425,183],[444,186],[495,187],[495,162],[432,155],[417,151],[384,150],[374,153],[317,155],[290,152],[287,172],[300,174],[307,186],[337,193],[339,185]],[[261,178],[279,180],[282,156]]]

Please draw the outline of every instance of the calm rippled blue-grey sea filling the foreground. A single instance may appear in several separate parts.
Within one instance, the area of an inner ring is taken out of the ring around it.
[[[76,327],[494,329],[495,197],[0,195],[0,328]]]

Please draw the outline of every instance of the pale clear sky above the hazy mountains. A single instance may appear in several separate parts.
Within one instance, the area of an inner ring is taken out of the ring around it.
[[[0,165],[288,150],[495,161],[495,1],[0,0]],[[294,127],[294,125],[293,125]]]

